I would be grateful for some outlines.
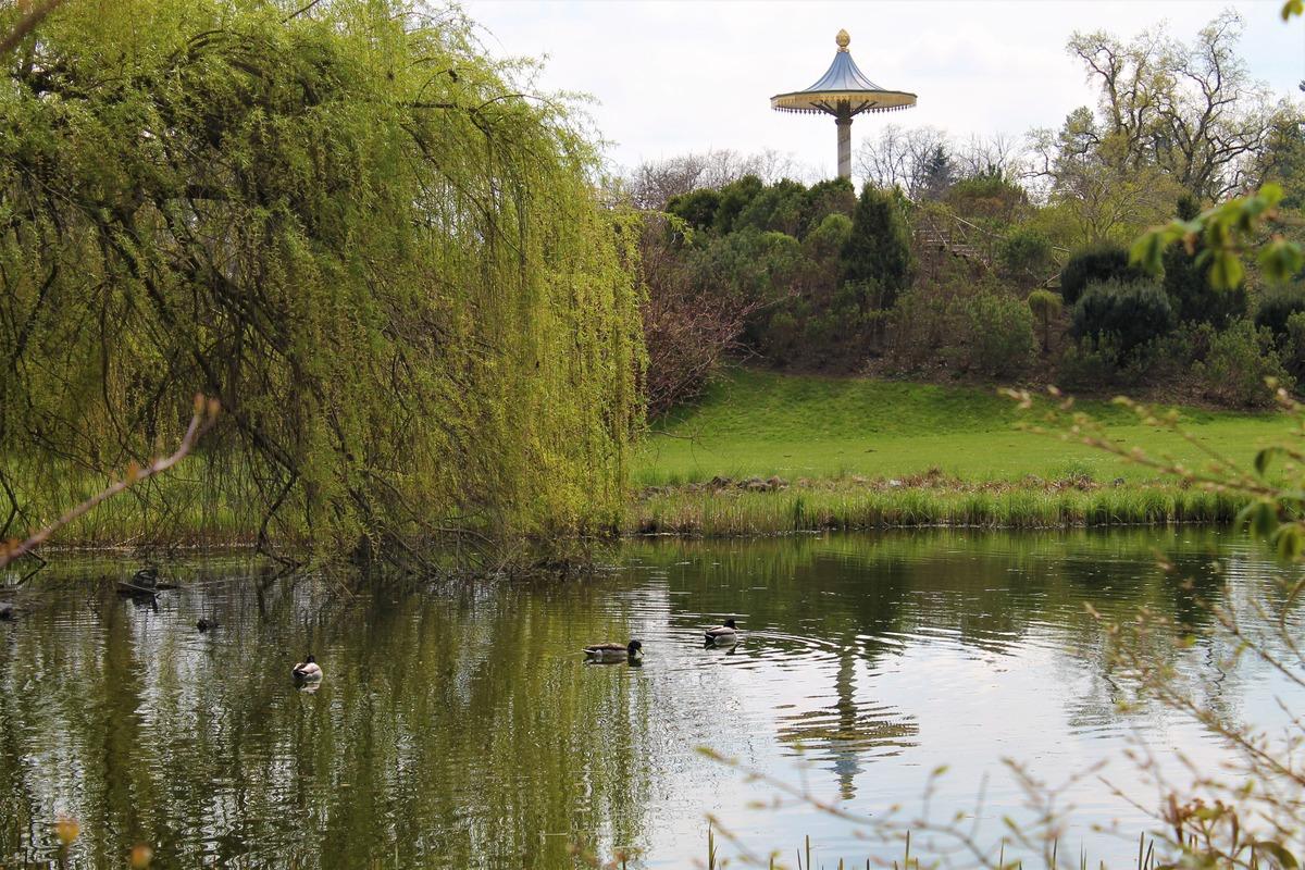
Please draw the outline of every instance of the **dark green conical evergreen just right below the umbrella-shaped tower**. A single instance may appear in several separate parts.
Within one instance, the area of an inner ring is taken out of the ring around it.
[[[882,307],[890,308],[898,293],[911,283],[915,267],[911,232],[891,192],[869,184],[852,213],[852,233],[840,254],[844,282],[874,282]]]

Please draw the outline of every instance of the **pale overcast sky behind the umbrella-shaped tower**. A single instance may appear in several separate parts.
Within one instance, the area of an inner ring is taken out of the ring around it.
[[[1022,134],[1058,127],[1094,103],[1065,52],[1074,30],[1124,37],[1168,21],[1190,39],[1227,7],[1246,25],[1241,53],[1253,74],[1305,97],[1305,21],[1279,18],[1282,0],[1253,3],[1023,0],[744,3],[736,0],[467,0],[485,47],[544,57],[539,85],[585,91],[616,163],[727,147],[791,153],[822,175],[835,168],[834,119],[770,110],[773,94],[814,82],[846,27],[861,70],[881,87],[919,94],[904,112],[863,115],[852,147],[882,124],[953,134]]]

